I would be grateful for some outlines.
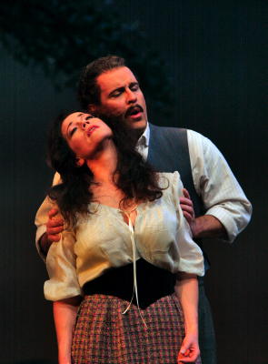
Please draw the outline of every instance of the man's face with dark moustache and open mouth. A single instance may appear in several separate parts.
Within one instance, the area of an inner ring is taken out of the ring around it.
[[[117,116],[140,136],[147,124],[147,111],[138,81],[127,67],[114,68],[96,78],[101,89],[100,106],[91,111],[99,116]]]

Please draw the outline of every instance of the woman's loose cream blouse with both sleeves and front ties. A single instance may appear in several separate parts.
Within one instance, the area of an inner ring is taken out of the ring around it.
[[[139,258],[172,273],[203,276],[203,254],[179,204],[183,196],[179,173],[159,176],[160,186],[166,187],[163,197],[137,206],[134,227],[124,222],[120,209],[92,203],[95,213],[79,218],[74,231],[62,233],[46,258],[50,278],[45,281],[46,299],[83,295],[84,283]]]

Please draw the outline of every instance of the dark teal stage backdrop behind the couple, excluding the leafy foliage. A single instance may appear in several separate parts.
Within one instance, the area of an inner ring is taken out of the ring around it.
[[[206,289],[219,364],[267,364],[266,2],[120,0],[115,5],[126,23],[139,21],[166,65],[174,96],[171,116],[160,116],[151,102],[150,121],[211,138],[253,203],[252,222],[233,246],[206,242],[212,261]],[[135,47],[142,55],[144,50]],[[3,48],[0,65],[0,362],[55,363],[34,217],[52,180],[45,166],[47,124],[65,106],[76,106],[74,90],[55,91],[40,68],[22,66]]]

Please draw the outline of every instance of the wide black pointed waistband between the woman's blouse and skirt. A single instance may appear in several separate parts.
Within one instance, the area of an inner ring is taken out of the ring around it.
[[[143,258],[136,262],[138,297],[141,308],[174,292],[175,276],[168,270],[154,267]],[[84,284],[85,295],[96,293],[130,301],[134,289],[133,264],[111,268],[101,277]],[[136,304],[134,297],[133,303]]]

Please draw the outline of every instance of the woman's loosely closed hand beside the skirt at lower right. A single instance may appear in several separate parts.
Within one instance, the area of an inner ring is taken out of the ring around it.
[[[193,333],[186,334],[178,355],[178,364],[194,363],[199,354],[198,335]]]

